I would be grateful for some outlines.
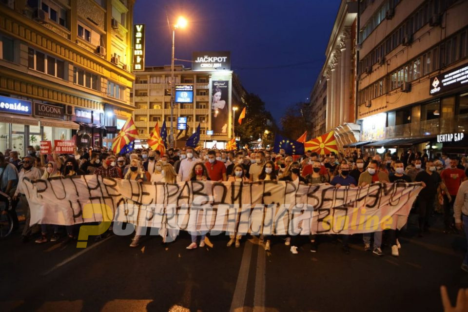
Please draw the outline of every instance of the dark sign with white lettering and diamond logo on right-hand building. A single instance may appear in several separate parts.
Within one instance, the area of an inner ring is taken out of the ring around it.
[[[430,95],[468,85],[468,63],[429,79]]]

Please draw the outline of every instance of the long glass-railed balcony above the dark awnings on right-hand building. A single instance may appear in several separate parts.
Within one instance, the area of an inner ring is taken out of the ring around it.
[[[424,137],[443,133],[467,132],[468,114],[437,118],[385,128],[386,138]]]

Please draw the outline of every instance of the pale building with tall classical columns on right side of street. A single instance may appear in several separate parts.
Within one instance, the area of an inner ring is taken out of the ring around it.
[[[326,61],[313,86],[312,137],[334,131],[338,148],[355,142],[355,37],[357,2],[342,0],[325,51]]]

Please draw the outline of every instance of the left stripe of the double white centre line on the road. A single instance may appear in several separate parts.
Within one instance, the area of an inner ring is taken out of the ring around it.
[[[250,242],[245,243],[244,253],[242,254],[242,260],[240,262],[239,274],[237,275],[237,282],[235,283],[233,301],[231,302],[231,309],[229,310],[231,312],[243,311],[253,246],[254,245]]]

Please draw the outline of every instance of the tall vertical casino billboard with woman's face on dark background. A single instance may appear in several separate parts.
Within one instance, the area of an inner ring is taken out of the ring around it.
[[[211,129],[213,136],[228,136],[229,80],[215,80],[211,89]]]

